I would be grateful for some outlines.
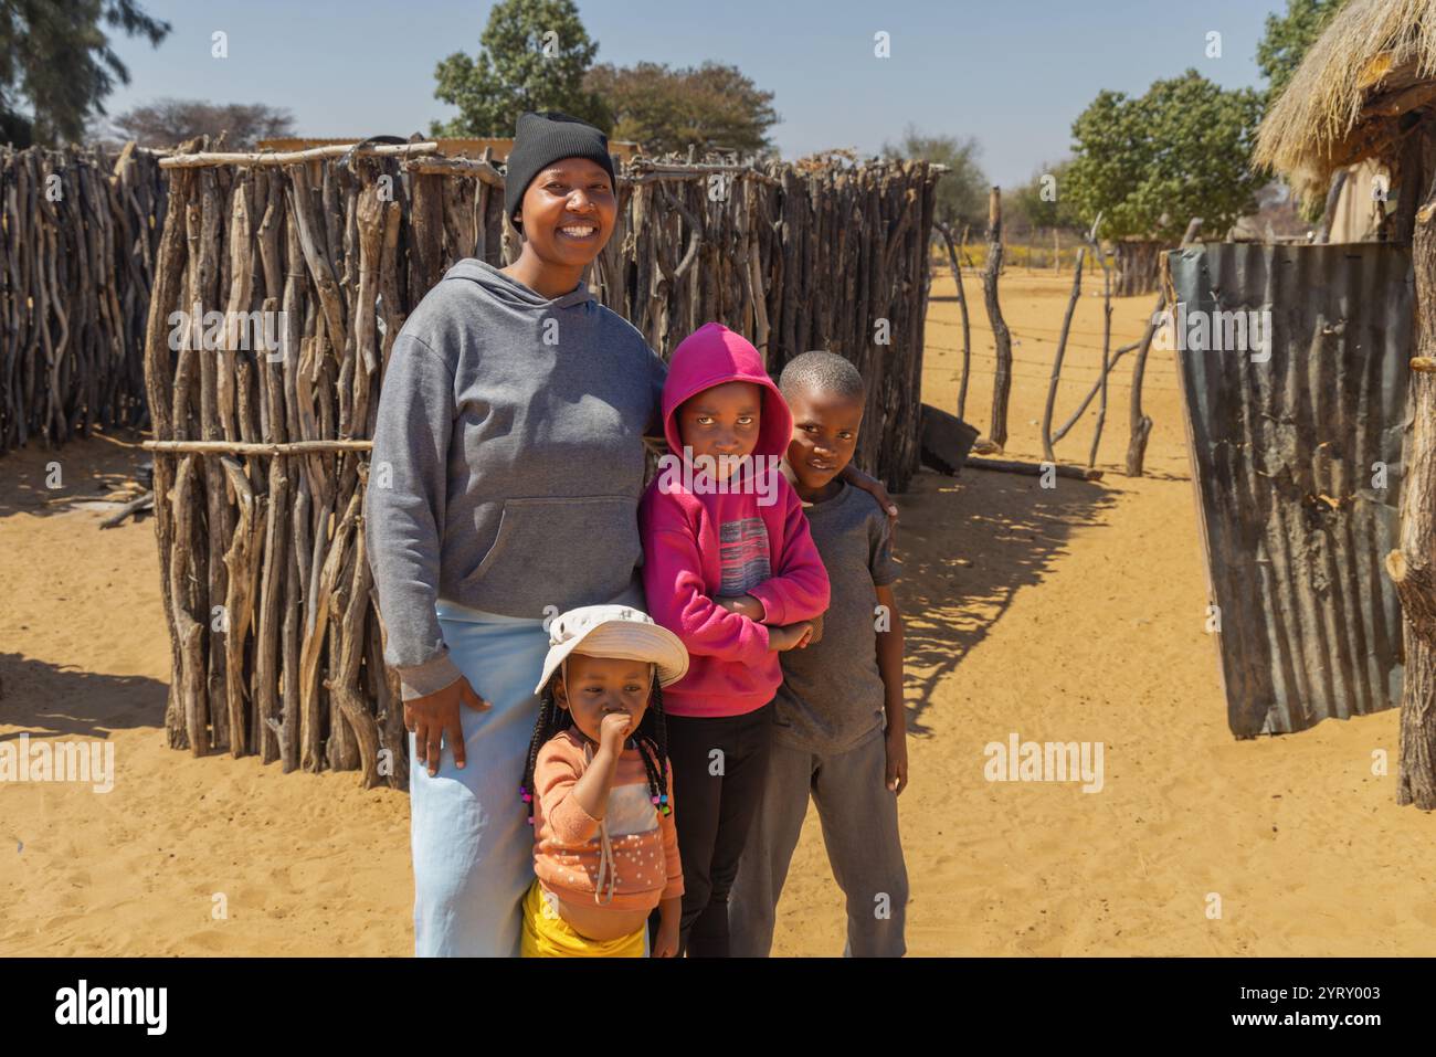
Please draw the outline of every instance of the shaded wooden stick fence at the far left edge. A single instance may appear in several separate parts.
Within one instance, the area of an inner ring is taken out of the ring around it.
[[[0,454],[144,425],[158,159],[0,148]]]

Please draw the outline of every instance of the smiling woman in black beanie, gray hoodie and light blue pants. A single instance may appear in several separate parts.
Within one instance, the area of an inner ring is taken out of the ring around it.
[[[666,368],[582,281],[616,223],[607,138],[524,113],[504,208],[518,260],[460,261],[395,340],[365,498],[412,732],[418,955],[517,955],[533,880],[518,786],[544,620],[645,607],[642,438],[658,432]],[[854,483],[890,507],[875,481]]]

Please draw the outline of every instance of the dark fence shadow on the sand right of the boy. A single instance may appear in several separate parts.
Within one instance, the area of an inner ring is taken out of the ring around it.
[[[968,468],[959,477],[925,470],[898,501],[908,730],[925,734],[938,682],[987,638],[1018,590],[1043,582],[1074,528],[1104,524],[1116,494],[1097,481],[1057,478],[1047,490],[1037,477]],[[1038,643],[1012,661],[1040,662]]]

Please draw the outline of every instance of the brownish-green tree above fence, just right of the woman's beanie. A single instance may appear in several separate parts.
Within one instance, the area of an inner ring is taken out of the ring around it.
[[[778,122],[773,92],[761,92],[737,66],[705,62],[669,69],[640,62],[617,69],[599,65],[584,86],[597,93],[609,113],[615,139],[632,139],[649,155],[699,149],[765,154],[773,149],[768,129]]]

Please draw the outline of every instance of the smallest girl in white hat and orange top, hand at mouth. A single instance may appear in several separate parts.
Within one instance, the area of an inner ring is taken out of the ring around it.
[[[524,958],[642,958],[678,952],[684,876],[673,829],[662,686],[688,651],[630,606],[570,609],[549,655],[520,796],[534,827],[523,903]]]

